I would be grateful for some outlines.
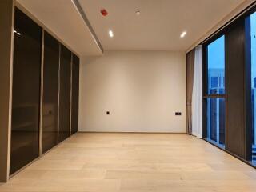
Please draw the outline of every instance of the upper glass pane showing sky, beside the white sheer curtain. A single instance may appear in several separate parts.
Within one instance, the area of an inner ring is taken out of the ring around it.
[[[207,46],[208,94],[225,94],[225,37]]]

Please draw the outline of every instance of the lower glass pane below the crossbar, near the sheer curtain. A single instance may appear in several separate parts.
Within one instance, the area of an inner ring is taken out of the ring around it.
[[[225,145],[225,99],[207,98],[207,139]]]

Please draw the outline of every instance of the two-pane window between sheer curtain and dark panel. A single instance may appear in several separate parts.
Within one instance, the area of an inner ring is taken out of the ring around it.
[[[206,138],[225,144],[225,36],[207,46]]]

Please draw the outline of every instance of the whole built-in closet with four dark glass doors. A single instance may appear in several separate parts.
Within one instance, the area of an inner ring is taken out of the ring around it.
[[[14,14],[10,175],[78,131],[79,58],[22,10]]]

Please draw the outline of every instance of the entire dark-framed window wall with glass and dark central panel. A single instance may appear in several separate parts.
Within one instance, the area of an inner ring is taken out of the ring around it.
[[[256,167],[256,5],[202,46],[203,138]]]

